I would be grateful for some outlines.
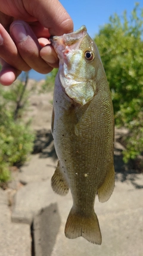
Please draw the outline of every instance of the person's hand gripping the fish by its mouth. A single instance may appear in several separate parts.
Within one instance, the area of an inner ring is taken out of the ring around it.
[[[73,31],[72,20],[58,0],[0,0],[0,23],[2,85],[11,85],[21,71],[33,68],[47,74],[58,67],[48,38]]]

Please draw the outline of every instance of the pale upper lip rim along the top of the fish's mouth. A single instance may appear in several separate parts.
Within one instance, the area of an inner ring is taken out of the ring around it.
[[[86,26],[83,25],[74,32],[63,34],[60,36],[57,36],[57,35],[51,36],[50,41],[53,46],[59,43],[61,44],[61,42],[64,45],[71,46],[72,44],[76,43],[76,41],[79,41],[81,38],[83,38],[83,36],[86,34],[87,34],[87,29],[86,29]]]

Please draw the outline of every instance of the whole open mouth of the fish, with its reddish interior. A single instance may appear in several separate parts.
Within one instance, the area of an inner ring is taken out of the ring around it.
[[[52,46],[55,49],[55,52],[59,53],[66,48],[66,46],[71,46],[74,44],[74,48],[78,46],[78,43],[82,40],[83,37],[87,34],[86,26],[81,26],[74,32],[69,34],[64,34],[60,36],[51,36],[50,41]],[[77,43],[77,44],[76,44]],[[75,45],[76,44],[76,45]]]

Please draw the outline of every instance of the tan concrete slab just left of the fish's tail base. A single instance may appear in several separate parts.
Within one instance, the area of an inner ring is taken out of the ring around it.
[[[12,212],[13,222],[32,224],[33,217],[50,203],[56,202],[51,189],[51,180],[31,182],[23,186],[15,195],[15,205]]]

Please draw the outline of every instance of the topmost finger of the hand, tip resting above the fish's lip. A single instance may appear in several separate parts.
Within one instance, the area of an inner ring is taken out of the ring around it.
[[[51,35],[73,31],[73,22],[58,0],[0,0],[1,11],[15,19],[35,22],[38,20]]]

